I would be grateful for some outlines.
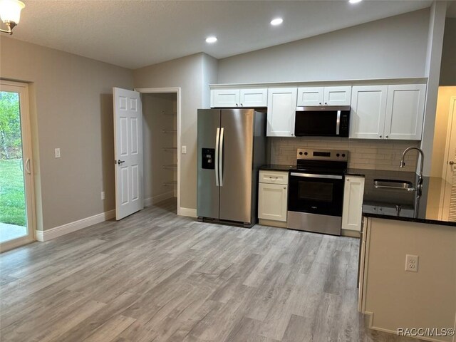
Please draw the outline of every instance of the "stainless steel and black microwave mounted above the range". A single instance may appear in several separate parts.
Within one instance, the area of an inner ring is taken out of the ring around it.
[[[349,125],[349,105],[297,107],[294,135],[348,137]]]

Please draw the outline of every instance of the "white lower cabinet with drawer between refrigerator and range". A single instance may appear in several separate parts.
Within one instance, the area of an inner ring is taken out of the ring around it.
[[[259,174],[258,218],[286,222],[288,172],[260,171]]]

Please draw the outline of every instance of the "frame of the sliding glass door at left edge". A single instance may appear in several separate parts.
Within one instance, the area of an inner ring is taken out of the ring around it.
[[[33,187],[33,159],[31,147],[30,110],[28,103],[28,85],[14,81],[0,80],[0,91],[19,93],[19,110],[21,112],[22,164],[24,170],[24,190],[26,199],[27,234],[24,237],[0,243],[0,252],[23,246],[35,241],[35,193]]]

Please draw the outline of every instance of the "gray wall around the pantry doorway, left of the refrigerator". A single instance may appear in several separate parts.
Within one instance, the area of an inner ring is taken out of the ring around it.
[[[154,64],[133,71],[135,88],[181,88],[180,207],[196,209],[197,109],[202,108],[203,53]],[[180,148],[180,147],[179,147]]]

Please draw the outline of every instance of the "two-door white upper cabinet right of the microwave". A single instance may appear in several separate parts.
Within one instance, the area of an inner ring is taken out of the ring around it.
[[[354,86],[350,138],[421,140],[425,84]]]

